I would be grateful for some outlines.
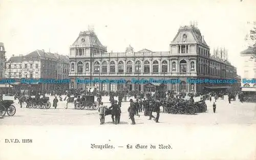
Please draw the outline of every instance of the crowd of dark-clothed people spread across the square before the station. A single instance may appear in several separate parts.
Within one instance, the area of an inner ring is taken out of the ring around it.
[[[224,99],[224,95],[228,95],[228,101],[230,103],[231,98],[234,98],[238,96],[240,99],[240,102],[243,103],[244,101],[244,95],[242,93],[235,93],[235,92],[208,92],[204,95],[200,95],[201,99],[209,100],[211,102],[212,98],[217,101],[219,97]],[[130,99],[130,106],[128,108],[129,111],[129,117],[132,121],[132,124],[135,123],[135,116],[140,116],[139,112],[144,112],[144,116],[148,116],[148,120],[152,120],[152,118],[155,120],[156,123],[159,122],[160,117],[160,101],[164,98],[177,98],[177,99],[184,99],[186,96],[190,97],[190,101],[194,102],[193,97],[195,94],[185,94],[185,93],[175,93],[173,91],[168,92],[159,92],[159,93],[150,93],[150,92],[138,92],[138,91],[101,91],[97,92],[96,89],[91,91],[89,90],[76,90],[76,89],[70,89],[70,90],[38,90],[35,94],[34,101],[38,102],[40,100],[40,97],[45,98],[46,95],[54,96],[53,100],[53,107],[57,108],[57,103],[59,101],[62,101],[61,95],[66,95],[64,101],[67,101],[66,108],[68,108],[68,103],[70,102],[79,102],[79,101],[86,101],[84,98],[85,96],[97,96],[97,102],[99,104],[99,115],[100,115],[100,124],[104,123],[104,117],[105,112],[108,110],[111,110],[112,115],[112,122],[114,124],[120,123],[120,116],[121,116],[121,103],[126,101],[127,97],[134,97],[136,99],[135,101],[133,99]],[[74,95],[74,98],[71,98],[71,95]],[[83,95],[83,96],[82,96]],[[111,107],[107,108],[105,105],[103,105],[102,96],[109,96]],[[18,98],[20,107],[22,108],[23,102],[26,102],[28,100],[31,100],[31,94],[28,93],[28,97],[25,96],[25,93],[18,93],[16,92],[14,95],[15,99]],[[118,101],[114,100],[114,97],[118,97]],[[3,100],[3,94],[0,94],[0,101]],[[28,107],[28,104],[27,106]],[[216,111],[216,103],[213,104],[214,112]],[[153,112],[156,112],[156,117],[152,115]],[[103,116],[102,116],[103,115]]]

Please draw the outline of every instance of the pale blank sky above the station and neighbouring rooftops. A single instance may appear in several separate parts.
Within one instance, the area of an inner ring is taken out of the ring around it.
[[[238,74],[243,72],[239,54],[256,21],[255,0],[0,0],[0,42],[7,58],[42,49],[68,55],[88,25],[108,52],[124,52],[129,44],[135,51],[169,51],[180,26],[190,21],[197,21],[210,53],[225,47]]]

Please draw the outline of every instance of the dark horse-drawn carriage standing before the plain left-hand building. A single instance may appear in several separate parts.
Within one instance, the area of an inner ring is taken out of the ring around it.
[[[27,103],[28,108],[40,108],[40,109],[49,109],[51,107],[51,102],[49,102],[49,97],[42,97],[40,99],[36,98],[26,98],[25,102]]]

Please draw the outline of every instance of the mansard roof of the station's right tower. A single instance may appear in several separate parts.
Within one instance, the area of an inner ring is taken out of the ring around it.
[[[183,41],[183,35],[186,35],[186,41]],[[195,26],[183,26],[180,27],[178,33],[176,34],[175,38],[172,41],[172,44],[174,43],[199,43],[202,45],[206,45],[208,47],[207,43],[204,40],[204,36],[201,34],[200,30]]]

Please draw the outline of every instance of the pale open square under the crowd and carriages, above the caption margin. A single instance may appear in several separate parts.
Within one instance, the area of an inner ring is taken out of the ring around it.
[[[62,96],[62,99],[64,98],[65,96]],[[13,97],[4,97],[5,99],[14,100]],[[23,108],[20,108],[18,100],[14,100],[14,106],[16,107],[15,115],[13,117],[5,116],[0,121],[0,125],[99,125],[98,110],[77,110],[74,109],[74,103],[68,103],[68,109],[65,109],[67,101],[59,101],[55,109],[52,107],[53,99],[54,97],[50,97],[50,109],[26,108],[26,103],[23,104]],[[129,100],[130,98],[127,98],[127,101]],[[199,97],[196,97],[195,101],[199,101]],[[108,107],[111,105],[109,97],[103,97],[102,102]],[[240,103],[237,99],[237,101],[231,101],[231,104],[229,104],[228,98],[225,96],[224,100],[217,100],[217,109],[216,113],[214,113],[212,109],[213,102],[206,100],[207,111],[197,113],[196,115],[172,115],[161,112],[159,118],[161,123],[154,125],[256,124],[255,103]],[[131,123],[127,111],[129,105],[130,102],[122,102],[120,125]],[[135,116],[137,125],[154,123],[154,121],[147,120],[148,117],[143,116],[143,114],[141,112],[139,113],[140,117]],[[153,115],[156,116],[156,113],[153,112]],[[111,115],[106,116],[105,122],[106,124],[111,124]]]

